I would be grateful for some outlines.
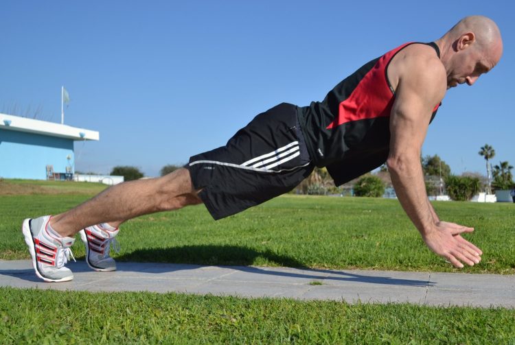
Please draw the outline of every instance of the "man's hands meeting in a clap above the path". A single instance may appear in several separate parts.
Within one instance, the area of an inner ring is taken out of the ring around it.
[[[437,222],[434,230],[422,235],[426,245],[436,254],[446,258],[455,267],[463,263],[473,266],[481,261],[481,250],[461,237],[461,233],[472,233],[474,228],[455,223]],[[461,261],[461,262],[460,262]]]

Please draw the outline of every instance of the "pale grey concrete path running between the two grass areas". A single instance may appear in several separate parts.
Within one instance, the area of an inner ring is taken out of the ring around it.
[[[93,272],[84,261],[71,262],[67,267],[75,275],[73,281],[45,283],[29,260],[0,261],[0,286],[515,308],[515,276],[173,263],[117,266],[116,272]]]

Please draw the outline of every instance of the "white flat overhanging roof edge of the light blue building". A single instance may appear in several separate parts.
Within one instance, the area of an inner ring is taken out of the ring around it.
[[[95,140],[100,139],[100,134],[94,130],[61,125],[60,123],[27,119],[13,115],[0,113],[0,129],[16,130],[19,132],[29,132],[48,136],[58,136],[60,138],[73,140]]]

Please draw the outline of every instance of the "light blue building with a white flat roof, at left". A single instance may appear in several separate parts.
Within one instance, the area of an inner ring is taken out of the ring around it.
[[[74,141],[99,140],[93,130],[0,113],[0,177],[71,179]]]

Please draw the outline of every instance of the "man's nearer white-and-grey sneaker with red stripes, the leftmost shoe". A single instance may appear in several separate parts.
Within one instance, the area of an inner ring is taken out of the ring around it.
[[[49,215],[36,219],[25,219],[21,232],[25,243],[29,247],[32,257],[32,266],[36,276],[43,281],[71,281],[73,273],[64,267],[73,253],[70,247],[75,239],[71,237],[58,237],[48,228]]]

